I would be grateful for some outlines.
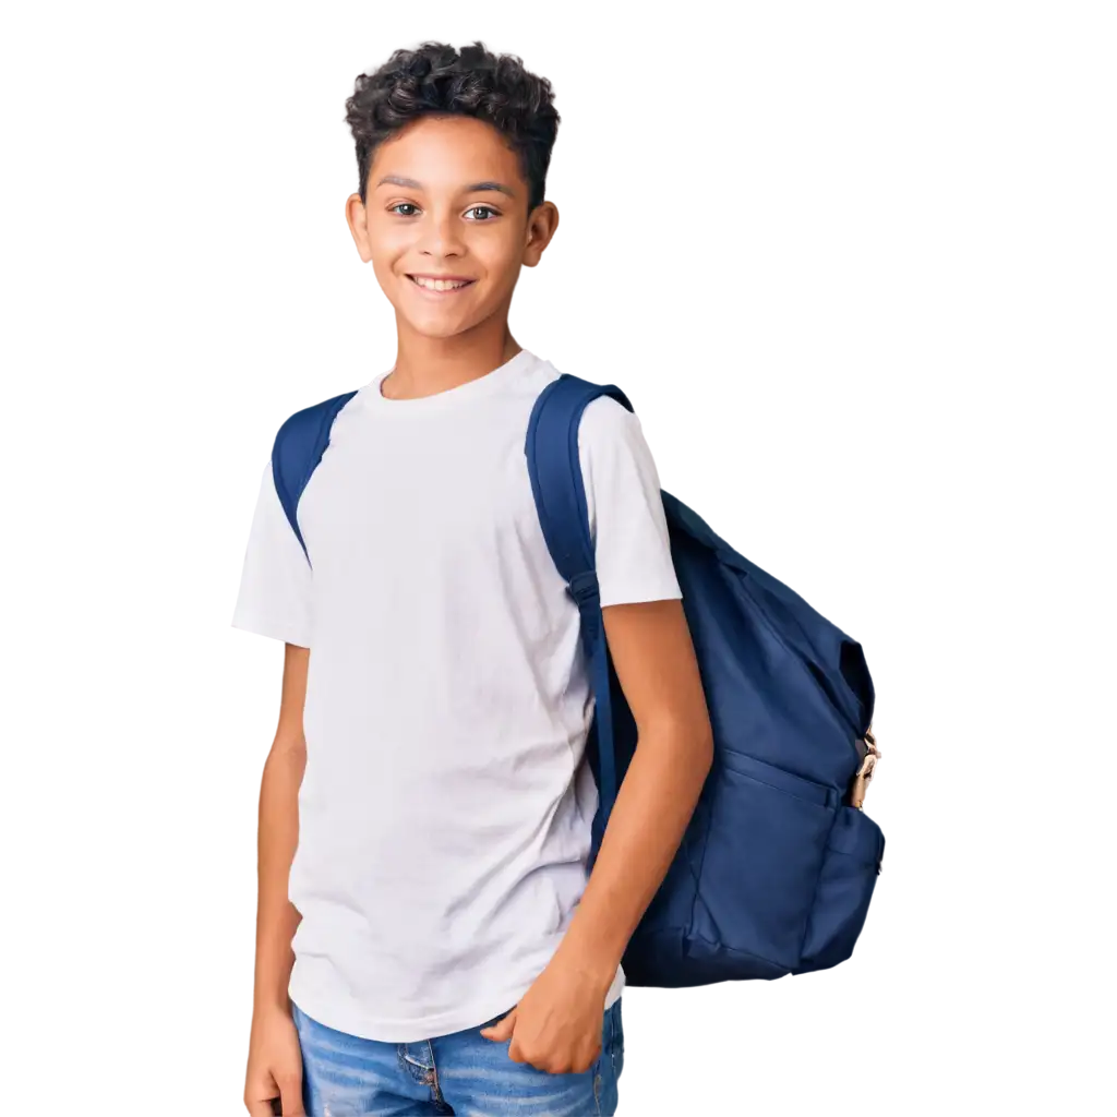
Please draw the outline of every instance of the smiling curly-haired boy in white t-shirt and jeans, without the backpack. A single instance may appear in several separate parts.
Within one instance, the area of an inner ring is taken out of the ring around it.
[[[548,90],[481,47],[401,47],[352,73],[343,133],[394,361],[334,422],[307,552],[269,465],[246,521],[230,622],[283,646],[246,1111],[614,1114],[621,957],[712,758],[659,483],[640,420],[594,401],[580,456],[639,746],[588,882],[591,691],[524,455],[560,369],[514,317],[554,221]]]

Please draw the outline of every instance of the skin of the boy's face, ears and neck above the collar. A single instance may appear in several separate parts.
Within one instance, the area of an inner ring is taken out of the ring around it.
[[[515,355],[519,277],[538,264],[554,207],[528,212],[519,159],[499,133],[468,117],[422,117],[376,150],[366,199],[346,194],[342,220],[392,318],[394,371],[384,394],[432,395]],[[432,297],[408,278],[417,274],[474,283]]]

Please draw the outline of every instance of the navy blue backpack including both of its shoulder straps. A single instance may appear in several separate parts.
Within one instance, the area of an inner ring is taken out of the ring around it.
[[[299,542],[299,495],[353,391],[287,412],[273,431],[276,489]],[[601,395],[636,409],[623,386],[554,381],[525,447],[543,535],[581,613],[596,699],[588,743],[600,792],[594,855],[637,743],[605,645],[577,450],[582,413]],[[662,496],[715,760],[626,952],[626,973],[641,990],[729,991],[837,965],[852,951],[884,852],[863,810],[878,754],[860,646],[758,582],[732,546],[693,522],[678,493]]]

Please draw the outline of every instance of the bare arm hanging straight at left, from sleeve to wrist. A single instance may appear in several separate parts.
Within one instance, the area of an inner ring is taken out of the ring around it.
[[[287,983],[295,962],[292,939],[299,914],[287,899],[298,841],[298,789],[306,764],[303,705],[309,650],[284,645],[279,653],[279,705],[265,746],[260,809],[256,821],[256,928],[252,1012],[288,1011]]]

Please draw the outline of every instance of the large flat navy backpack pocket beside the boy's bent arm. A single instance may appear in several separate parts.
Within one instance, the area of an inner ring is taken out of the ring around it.
[[[715,763],[689,954],[741,977],[793,971],[838,794],[751,756]]]

